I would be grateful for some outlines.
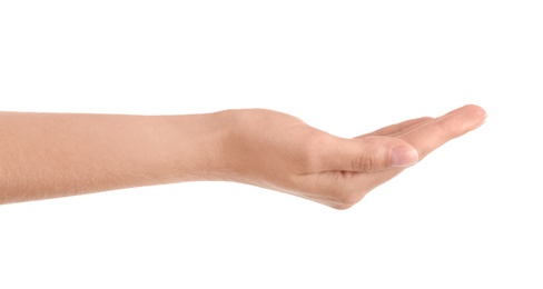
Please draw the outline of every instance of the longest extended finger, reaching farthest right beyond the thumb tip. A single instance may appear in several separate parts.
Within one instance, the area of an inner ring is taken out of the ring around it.
[[[445,142],[476,129],[485,119],[486,112],[481,107],[468,104],[397,137],[415,147],[422,159]]]

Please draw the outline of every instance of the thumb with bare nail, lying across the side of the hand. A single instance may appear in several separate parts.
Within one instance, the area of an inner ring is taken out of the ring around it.
[[[333,151],[325,156],[326,170],[376,172],[389,168],[404,168],[418,161],[415,148],[392,137],[337,139]]]

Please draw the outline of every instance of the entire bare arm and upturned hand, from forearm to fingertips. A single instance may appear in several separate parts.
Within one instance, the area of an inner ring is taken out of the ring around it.
[[[187,116],[0,112],[0,203],[226,180],[346,209],[485,118],[470,104],[345,139],[263,109]]]

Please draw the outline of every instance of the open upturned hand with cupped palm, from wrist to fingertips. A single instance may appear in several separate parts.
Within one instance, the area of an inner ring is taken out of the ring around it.
[[[336,209],[358,202],[375,187],[434,149],[477,127],[486,112],[465,106],[440,118],[418,118],[354,139],[332,136],[276,111],[219,112],[228,133],[221,179],[314,200]]]

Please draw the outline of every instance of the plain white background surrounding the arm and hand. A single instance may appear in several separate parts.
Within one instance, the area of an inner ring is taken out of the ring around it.
[[[488,112],[345,211],[224,182],[2,206],[0,288],[542,288],[540,2],[0,1],[0,110]]]

